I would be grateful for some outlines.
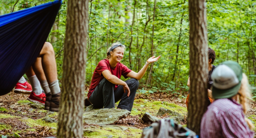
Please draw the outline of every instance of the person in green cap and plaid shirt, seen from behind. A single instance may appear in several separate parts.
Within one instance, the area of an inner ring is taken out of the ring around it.
[[[253,138],[254,125],[245,118],[250,89],[240,65],[234,61],[221,63],[212,72],[212,80],[215,101],[203,115],[200,137]]]

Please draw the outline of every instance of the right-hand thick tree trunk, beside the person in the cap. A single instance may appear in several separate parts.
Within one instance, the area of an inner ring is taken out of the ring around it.
[[[189,0],[190,97],[187,127],[199,135],[207,110],[207,23],[205,0]]]

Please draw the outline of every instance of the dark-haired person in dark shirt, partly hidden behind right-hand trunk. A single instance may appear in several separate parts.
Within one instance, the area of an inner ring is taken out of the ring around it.
[[[212,98],[212,94],[211,94],[211,86],[212,86],[212,79],[211,79],[211,75],[212,75],[212,71],[215,69],[215,65],[213,65],[215,60],[215,52],[213,49],[208,47],[208,71],[209,71],[209,75],[208,75],[208,84],[207,84],[207,90],[208,90],[208,100],[207,100],[207,105],[210,105],[213,101]],[[190,77],[188,77],[187,80],[187,86],[190,87]],[[187,94],[187,98],[186,98],[186,105],[187,105],[187,109],[188,109],[188,101],[189,101],[189,93]]]

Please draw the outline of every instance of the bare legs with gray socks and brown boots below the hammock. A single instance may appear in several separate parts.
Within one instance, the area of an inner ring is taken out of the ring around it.
[[[32,67],[46,94],[45,109],[57,112],[61,90],[57,78],[57,65],[52,44],[45,42]],[[47,87],[49,87],[48,90],[46,90]]]

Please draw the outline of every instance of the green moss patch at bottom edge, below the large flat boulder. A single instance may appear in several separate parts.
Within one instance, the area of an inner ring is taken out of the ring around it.
[[[139,138],[141,137],[142,130],[140,129],[133,129],[128,128],[126,131],[116,130],[113,128],[100,128],[100,129],[94,129],[97,132],[84,132],[85,137],[89,138],[101,138],[101,137],[108,137],[109,135],[112,135],[113,137],[134,137]]]

